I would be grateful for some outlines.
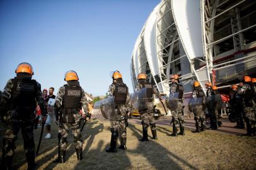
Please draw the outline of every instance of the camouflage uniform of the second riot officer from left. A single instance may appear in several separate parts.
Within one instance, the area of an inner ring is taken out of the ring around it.
[[[67,82],[68,84],[65,86],[62,86],[59,88],[59,91],[56,96],[56,101],[55,101],[55,107],[56,110],[59,110],[59,116],[60,116],[60,123],[59,123],[59,147],[61,154],[59,155],[59,159],[64,159],[64,156],[66,155],[66,148],[67,148],[67,135],[69,132],[69,129],[71,128],[73,137],[74,137],[74,147],[76,148],[76,154],[78,156],[78,160],[81,160],[82,157],[82,152],[83,152],[83,140],[81,137],[81,113],[79,113],[79,110],[81,110],[81,106],[84,109],[84,113],[88,113],[88,100],[86,98],[86,95],[84,93],[84,90],[81,88],[81,94],[79,94],[79,97],[81,97],[80,106],[76,108],[74,106],[74,109],[71,111],[70,117],[67,115],[64,115],[64,108],[65,106],[63,105],[62,100],[64,99],[64,95],[66,93],[66,87],[78,87],[79,82]],[[72,84],[71,84],[72,83]],[[69,93],[67,91],[67,93]],[[66,94],[69,95],[69,94]],[[70,120],[71,118],[71,120]],[[63,157],[61,157],[63,156]],[[60,161],[60,160],[56,160]],[[61,160],[62,162],[65,162],[65,160]]]

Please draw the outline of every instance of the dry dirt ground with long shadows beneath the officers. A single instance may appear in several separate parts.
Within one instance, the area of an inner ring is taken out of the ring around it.
[[[43,139],[37,169],[256,169],[256,137],[221,134],[218,132],[192,133],[170,137],[172,128],[157,127],[158,140],[139,142],[142,128],[129,124],[127,150],[107,153],[110,144],[110,123],[93,119],[83,130],[82,161],[76,161],[71,133],[68,136],[67,162],[55,164],[57,157],[57,126],[52,125],[52,139]],[[150,131],[150,130],[149,130]],[[37,146],[40,127],[34,130]],[[45,133],[44,133],[45,136]],[[151,132],[149,132],[151,137]],[[3,126],[1,127],[1,139]],[[26,169],[21,133],[16,140],[14,169]],[[1,144],[2,147],[2,144]]]

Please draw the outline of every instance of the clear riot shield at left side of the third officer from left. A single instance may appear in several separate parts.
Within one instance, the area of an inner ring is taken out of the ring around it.
[[[105,99],[96,101],[93,106],[92,115],[96,116],[96,118],[100,120],[104,120],[104,119],[112,120],[112,118],[115,116],[114,100],[115,100],[114,96],[108,96]]]

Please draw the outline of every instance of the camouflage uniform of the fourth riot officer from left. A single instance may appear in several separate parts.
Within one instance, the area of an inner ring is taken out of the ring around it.
[[[143,84],[148,84],[149,86],[152,87],[152,93],[156,94],[156,96],[158,96],[158,98],[160,97],[160,93],[158,91],[156,91],[156,89],[154,89],[154,87],[149,84],[148,82],[146,82],[146,80],[137,82],[137,90],[143,89],[144,86],[147,85],[143,85]],[[148,140],[148,127],[151,128],[151,132],[153,135],[153,139],[157,139],[156,136],[156,123],[154,122],[154,104],[153,104],[153,98],[151,99],[151,101],[148,101],[147,103],[147,109],[146,110],[139,110],[139,113],[141,114],[141,124],[143,125],[143,139],[141,139],[141,141],[144,140]]]

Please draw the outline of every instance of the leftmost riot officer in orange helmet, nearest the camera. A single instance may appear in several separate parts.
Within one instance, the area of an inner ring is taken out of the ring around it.
[[[41,85],[32,79],[32,65],[23,62],[16,69],[16,77],[9,79],[1,94],[1,118],[6,123],[3,139],[1,169],[11,169],[15,154],[15,140],[21,128],[28,169],[35,167],[33,122],[36,103],[43,109]]]

